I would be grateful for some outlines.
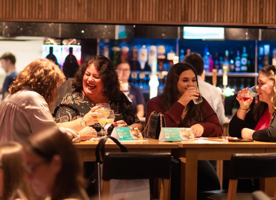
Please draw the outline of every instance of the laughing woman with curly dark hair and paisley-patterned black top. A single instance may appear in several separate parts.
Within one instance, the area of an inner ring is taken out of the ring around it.
[[[120,91],[114,64],[105,56],[86,60],[76,72],[72,85],[75,90],[66,94],[55,109],[58,126],[75,130],[92,126],[100,131],[101,126],[92,108],[98,103],[108,103],[115,113],[115,122],[108,128],[109,134],[114,126],[142,128],[131,102]]]

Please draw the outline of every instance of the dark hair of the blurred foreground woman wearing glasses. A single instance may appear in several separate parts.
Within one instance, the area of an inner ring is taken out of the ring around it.
[[[26,152],[43,158],[50,163],[53,156],[61,158],[52,191],[52,200],[66,199],[72,194],[81,194],[82,178],[77,152],[66,134],[58,128],[47,129],[31,136],[26,145]]]

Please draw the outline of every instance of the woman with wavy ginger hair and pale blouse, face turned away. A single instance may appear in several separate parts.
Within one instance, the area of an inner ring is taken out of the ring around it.
[[[49,104],[54,101],[64,80],[65,76],[53,61],[36,59],[28,64],[0,105],[0,143],[11,140],[23,143],[31,134],[56,127]],[[73,142],[96,136],[95,129],[90,127],[79,132],[63,129],[63,132]]]

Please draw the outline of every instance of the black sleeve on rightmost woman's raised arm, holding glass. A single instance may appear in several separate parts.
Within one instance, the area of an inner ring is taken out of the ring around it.
[[[253,109],[248,111],[244,120],[239,119],[237,113],[235,113],[229,123],[229,135],[231,137],[241,138],[241,130],[243,128],[254,129],[256,125],[257,122],[253,119]]]

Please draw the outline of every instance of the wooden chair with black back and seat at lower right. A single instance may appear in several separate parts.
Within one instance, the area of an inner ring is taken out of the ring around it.
[[[199,194],[200,199],[208,200],[243,200],[252,199],[251,193],[237,193],[238,179],[258,179],[276,177],[276,153],[233,154],[229,166],[228,193],[225,190],[205,191]],[[276,188],[274,193],[276,199]]]

